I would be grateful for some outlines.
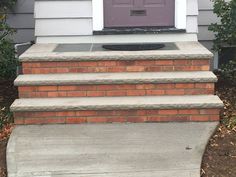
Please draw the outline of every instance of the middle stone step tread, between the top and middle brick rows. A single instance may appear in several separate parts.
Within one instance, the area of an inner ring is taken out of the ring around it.
[[[210,71],[150,72],[150,73],[88,73],[88,74],[28,74],[16,78],[15,86],[92,85],[145,83],[213,83],[217,77]]]

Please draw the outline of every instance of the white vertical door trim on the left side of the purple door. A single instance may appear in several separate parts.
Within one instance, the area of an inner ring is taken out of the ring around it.
[[[103,0],[92,0],[93,30],[101,31],[104,27]]]

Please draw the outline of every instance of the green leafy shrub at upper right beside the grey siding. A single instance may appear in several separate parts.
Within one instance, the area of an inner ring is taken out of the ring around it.
[[[212,1],[220,23],[211,24],[209,30],[215,33],[214,50],[220,51],[224,46],[236,45],[236,0]]]

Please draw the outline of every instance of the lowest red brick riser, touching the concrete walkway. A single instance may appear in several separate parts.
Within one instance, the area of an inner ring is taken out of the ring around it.
[[[219,121],[219,109],[16,112],[15,124]]]

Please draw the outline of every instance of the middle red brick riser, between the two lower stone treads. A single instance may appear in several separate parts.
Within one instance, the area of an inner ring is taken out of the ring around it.
[[[20,86],[21,98],[214,94],[214,83]]]

